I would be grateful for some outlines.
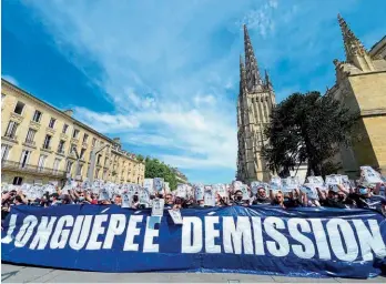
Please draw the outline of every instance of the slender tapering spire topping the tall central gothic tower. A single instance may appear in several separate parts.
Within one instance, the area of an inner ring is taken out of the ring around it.
[[[253,52],[248,30],[244,24],[244,50],[245,50],[245,69],[246,69],[246,87],[247,90],[260,91],[262,89],[262,79],[260,77],[257,60]]]

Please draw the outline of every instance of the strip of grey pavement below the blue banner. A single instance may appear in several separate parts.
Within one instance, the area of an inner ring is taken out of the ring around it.
[[[225,273],[96,273],[64,271],[54,268],[40,268],[1,264],[1,282],[3,283],[92,283],[92,282],[141,282],[141,283],[386,283],[385,277],[370,280],[351,278],[305,278],[282,277],[250,274],[225,274]]]

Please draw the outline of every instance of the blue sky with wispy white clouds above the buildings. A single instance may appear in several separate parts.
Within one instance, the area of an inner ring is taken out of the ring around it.
[[[281,101],[334,84],[338,12],[370,48],[385,10],[384,0],[2,0],[1,74],[193,182],[230,182],[242,24]]]

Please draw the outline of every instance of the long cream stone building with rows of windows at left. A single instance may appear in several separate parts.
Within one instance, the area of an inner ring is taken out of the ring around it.
[[[143,184],[144,163],[123,151],[119,139],[75,120],[72,111],[61,111],[3,79],[1,110],[2,182],[84,180],[92,150],[106,144],[95,156],[94,179]]]

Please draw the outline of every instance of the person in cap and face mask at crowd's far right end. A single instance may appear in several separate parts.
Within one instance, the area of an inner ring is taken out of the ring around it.
[[[372,209],[386,216],[386,199],[374,195],[372,185],[359,185],[357,192],[351,193],[349,197],[355,201],[359,209]]]

